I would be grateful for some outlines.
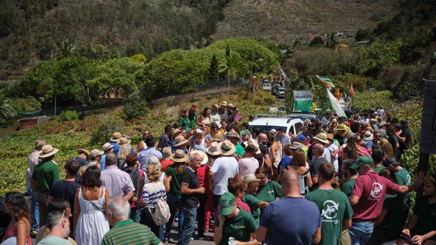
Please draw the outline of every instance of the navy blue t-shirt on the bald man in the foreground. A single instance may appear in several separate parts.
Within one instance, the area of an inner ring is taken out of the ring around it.
[[[260,225],[268,228],[268,245],[309,245],[321,227],[321,213],[314,202],[299,197],[284,197],[271,202]]]

